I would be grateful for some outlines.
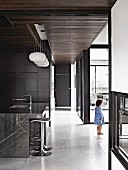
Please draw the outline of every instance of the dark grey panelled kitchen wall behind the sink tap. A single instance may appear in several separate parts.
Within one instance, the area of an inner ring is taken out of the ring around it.
[[[48,46],[48,44],[47,44]],[[50,49],[45,47],[50,60]],[[13,98],[32,96],[33,112],[41,112],[50,100],[50,66],[39,68],[28,59],[29,53],[0,53],[0,112],[10,112]]]

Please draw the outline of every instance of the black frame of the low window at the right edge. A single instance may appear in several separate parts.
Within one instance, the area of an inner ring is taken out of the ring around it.
[[[128,155],[123,151],[119,144],[119,117],[120,117],[120,98],[128,98],[128,94],[121,92],[111,92],[111,151],[120,161],[120,163],[124,166],[124,168],[128,168]]]

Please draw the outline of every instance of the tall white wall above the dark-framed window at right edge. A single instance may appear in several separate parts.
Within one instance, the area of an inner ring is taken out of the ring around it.
[[[112,90],[128,93],[128,0],[112,8]]]

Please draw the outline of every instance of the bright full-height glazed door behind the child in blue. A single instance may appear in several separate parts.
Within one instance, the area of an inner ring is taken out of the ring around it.
[[[95,103],[103,100],[102,110],[105,122],[109,120],[109,65],[108,49],[90,50],[90,122],[94,122]]]

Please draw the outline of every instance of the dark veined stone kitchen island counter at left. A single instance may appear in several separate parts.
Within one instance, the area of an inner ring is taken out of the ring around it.
[[[0,113],[0,158],[29,157],[30,120],[42,118],[42,113]],[[49,115],[49,114],[48,114]]]

